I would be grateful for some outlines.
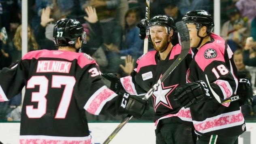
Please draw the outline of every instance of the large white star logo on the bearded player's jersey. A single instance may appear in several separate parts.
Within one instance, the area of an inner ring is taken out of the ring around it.
[[[162,77],[162,75],[160,76],[160,78]],[[171,92],[173,92],[173,90],[178,86],[178,84],[176,85],[171,85],[168,87],[164,87],[164,83],[162,83],[162,85],[160,85],[157,89],[157,91],[153,92],[153,98],[154,98],[154,109],[156,111],[156,109],[158,108],[158,106],[160,106],[160,104],[166,106],[167,108],[173,109],[171,106],[171,103],[169,101],[169,95]]]

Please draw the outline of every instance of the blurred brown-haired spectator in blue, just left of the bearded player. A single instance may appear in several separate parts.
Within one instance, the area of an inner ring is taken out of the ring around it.
[[[130,9],[125,15],[124,46],[121,50],[110,47],[109,51],[120,53],[121,56],[131,55],[137,59],[143,54],[143,40],[139,38],[140,30],[136,27],[139,15],[135,9]]]

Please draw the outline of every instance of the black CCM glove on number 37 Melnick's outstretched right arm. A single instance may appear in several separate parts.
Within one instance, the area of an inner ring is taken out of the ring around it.
[[[147,100],[142,100],[141,97],[136,95],[124,93],[119,108],[119,114],[127,113],[135,118],[141,118],[145,110],[148,109],[149,102]]]

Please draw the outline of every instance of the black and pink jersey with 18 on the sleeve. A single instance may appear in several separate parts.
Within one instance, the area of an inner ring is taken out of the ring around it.
[[[237,68],[233,61],[233,52],[220,36],[211,34],[199,50],[192,49],[193,59],[187,72],[187,81],[203,80],[222,99],[237,91]],[[209,95],[212,95],[209,89]],[[198,102],[190,107],[196,133],[201,135],[236,136],[245,131],[243,114],[238,102],[220,104],[214,98],[211,101]]]

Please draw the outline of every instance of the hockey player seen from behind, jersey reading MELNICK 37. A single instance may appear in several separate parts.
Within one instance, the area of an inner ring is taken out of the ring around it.
[[[85,110],[96,115],[143,114],[145,100],[108,89],[94,59],[76,53],[85,39],[79,21],[59,20],[53,37],[58,51],[32,51],[0,71],[1,102],[26,86],[20,144],[91,144]]]

